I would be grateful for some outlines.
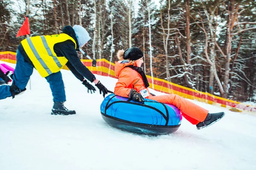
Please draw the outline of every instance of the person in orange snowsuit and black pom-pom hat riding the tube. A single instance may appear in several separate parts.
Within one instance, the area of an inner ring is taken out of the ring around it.
[[[212,125],[224,116],[224,112],[208,113],[206,109],[176,94],[152,95],[148,90],[148,80],[141,68],[143,52],[139,48],[120,50],[117,57],[119,62],[115,65],[115,74],[119,79],[114,91],[116,95],[129,97],[137,102],[143,102],[144,98],[147,98],[174,105],[180,109],[183,117],[198,129]]]

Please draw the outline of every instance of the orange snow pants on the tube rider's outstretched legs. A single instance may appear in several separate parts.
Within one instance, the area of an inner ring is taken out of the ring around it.
[[[206,109],[176,94],[148,96],[148,99],[176,106],[178,109],[180,109],[182,116],[193,125],[197,125],[199,122],[203,122],[208,114]]]

